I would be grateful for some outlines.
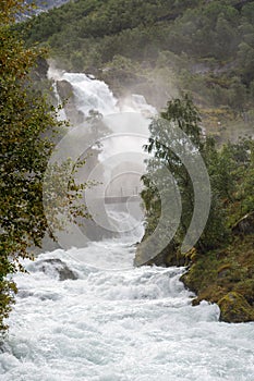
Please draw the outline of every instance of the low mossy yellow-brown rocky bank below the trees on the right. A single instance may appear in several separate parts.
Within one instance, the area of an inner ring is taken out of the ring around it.
[[[254,321],[253,243],[253,234],[240,234],[225,248],[206,254],[192,249],[185,256],[164,253],[146,265],[188,266],[181,281],[196,294],[192,302],[194,306],[202,300],[216,303],[220,307],[221,321]]]

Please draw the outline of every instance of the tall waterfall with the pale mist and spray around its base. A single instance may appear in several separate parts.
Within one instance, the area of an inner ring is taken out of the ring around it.
[[[48,77],[55,81],[58,99],[65,101],[64,112],[71,122],[71,147],[62,149],[63,157],[66,151],[71,157],[76,157],[77,151],[81,157],[86,157],[86,164],[78,170],[77,179],[97,182],[96,186],[86,189],[83,201],[96,229],[102,229],[100,238],[105,232],[112,232],[117,235],[133,234],[136,242],[143,234],[138,198],[140,179],[145,172],[147,158],[143,146],[148,138],[150,116],[156,110],[147,105],[143,95],[117,99],[108,85],[93,75],[66,73],[50,66]],[[110,207],[106,205],[108,202]],[[84,246],[76,228],[75,233],[71,231],[72,238],[64,232],[64,247]]]

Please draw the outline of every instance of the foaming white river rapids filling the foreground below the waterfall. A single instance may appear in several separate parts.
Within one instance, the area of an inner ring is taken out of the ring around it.
[[[122,228],[130,222],[111,216]],[[133,268],[141,235],[137,229],[25,261],[29,273],[14,276],[20,291],[1,381],[254,380],[254,323],[219,322],[218,306],[206,302],[192,307],[179,281],[183,268]]]

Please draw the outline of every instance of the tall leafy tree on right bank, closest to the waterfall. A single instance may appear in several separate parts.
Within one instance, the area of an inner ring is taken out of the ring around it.
[[[145,146],[145,151],[153,153],[153,158],[147,161],[147,174],[142,179],[145,185],[142,192],[147,214],[146,214],[146,231],[148,234],[154,231],[160,217],[160,200],[156,184],[153,184],[154,174],[162,167],[167,168],[169,173],[177,182],[177,186],[181,193],[182,216],[174,241],[180,244],[188,232],[188,226],[191,222],[194,210],[193,186],[186,168],[181,161],[181,150],[191,149],[190,140],[182,140],[178,134],[176,135],[174,126],[180,128],[188,135],[196,149],[203,149],[202,134],[199,127],[199,114],[191,98],[185,95],[182,99],[174,99],[167,103],[166,111],[160,113],[160,118],[156,118],[149,125],[150,137]],[[176,147],[168,145],[173,142]],[[196,153],[193,152],[193,156]],[[164,182],[164,179],[160,180]],[[160,188],[168,184],[160,184]]]

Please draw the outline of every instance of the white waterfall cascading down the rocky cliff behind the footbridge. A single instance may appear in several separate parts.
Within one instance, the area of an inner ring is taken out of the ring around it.
[[[61,86],[65,86],[65,93],[71,96],[71,107],[66,110],[66,114],[69,111],[73,115],[74,110],[75,114],[83,115],[80,121],[75,116],[73,118],[73,121],[76,122],[76,125],[74,123],[73,126],[77,126],[82,132],[87,131],[89,140],[87,136],[84,139],[85,143],[89,142],[87,146],[93,148],[96,142],[101,139],[98,160],[93,161],[92,159],[93,167],[88,159],[87,167],[90,168],[90,171],[88,174],[85,173],[86,179],[98,181],[100,185],[86,190],[85,202],[93,218],[95,220],[100,218],[100,226],[106,229],[114,226],[111,231],[118,232],[118,230],[122,230],[118,224],[121,222],[123,225],[123,220],[126,218],[120,217],[119,219],[116,216],[112,218],[107,209],[102,214],[105,208],[101,199],[106,194],[107,196],[120,196],[121,194],[132,196],[134,192],[137,193],[135,189],[141,190],[140,179],[145,171],[144,158],[146,157],[143,152],[143,145],[148,137],[149,119],[147,116],[155,114],[156,110],[147,105],[144,96],[141,95],[132,95],[121,102],[118,101],[104,82],[84,73],[66,73],[50,69],[48,75],[58,84],[62,84]],[[61,86],[59,88],[63,89]],[[98,111],[104,116],[102,122],[106,127],[101,128],[100,132],[99,127],[96,128],[93,125],[89,127],[89,122],[85,119],[90,116],[92,110]],[[137,137],[138,133],[140,137]],[[85,149],[84,152],[86,152]],[[82,177],[82,171],[80,171],[80,177]],[[138,213],[143,216],[138,200],[135,208],[131,207],[130,202],[128,208],[130,214],[133,211],[135,217]],[[132,219],[132,221],[134,220]],[[133,224],[134,228],[135,224]],[[70,239],[68,238],[68,241]],[[75,235],[74,241],[78,241],[78,246],[83,246],[82,239],[77,238],[77,235]]]

